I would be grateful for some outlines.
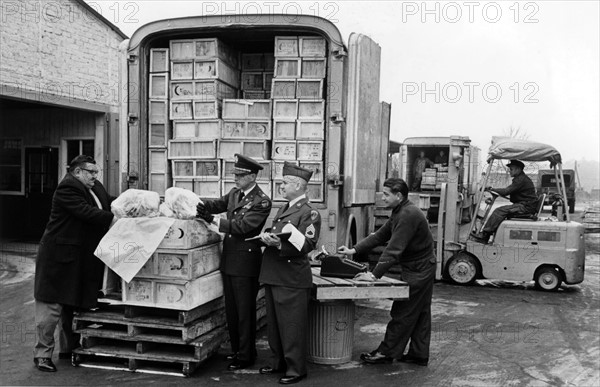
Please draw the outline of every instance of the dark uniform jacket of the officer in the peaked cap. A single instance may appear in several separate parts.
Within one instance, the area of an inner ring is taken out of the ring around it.
[[[258,184],[238,203],[239,188],[233,188],[220,199],[204,204],[211,214],[227,212],[221,219],[219,231],[225,233],[221,272],[241,277],[258,277],[262,251],[259,241],[248,241],[260,234],[271,212],[271,200]]]

